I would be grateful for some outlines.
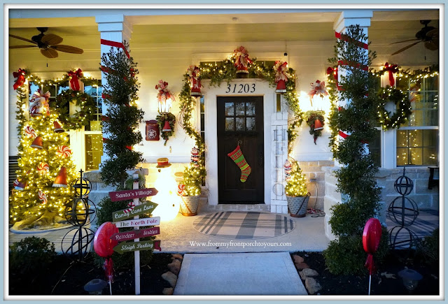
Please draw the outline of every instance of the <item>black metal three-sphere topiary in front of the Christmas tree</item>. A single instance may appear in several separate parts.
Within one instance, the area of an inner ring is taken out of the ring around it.
[[[83,178],[83,170],[79,172],[80,178],[71,184],[71,187],[75,189],[75,196],[73,201],[66,205],[64,211],[67,222],[76,228],[67,232],[61,242],[62,252],[76,261],[82,261],[89,252],[88,249],[93,241],[94,232],[83,226],[93,221],[94,216],[91,216],[96,215],[97,211],[97,206],[87,198],[92,189],[92,184],[87,178]],[[69,236],[76,229],[78,231],[73,236]],[[69,238],[71,238],[71,242],[69,242]]]

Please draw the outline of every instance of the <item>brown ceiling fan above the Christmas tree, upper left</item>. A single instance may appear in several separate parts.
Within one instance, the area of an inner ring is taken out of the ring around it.
[[[20,36],[15,36],[13,34],[9,34],[10,37],[20,39],[22,41],[27,41],[29,43],[33,43],[34,45],[10,45],[9,48],[40,48],[41,54],[48,58],[56,58],[58,56],[57,51],[66,52],[71,54],[83,54],[83,50],[80,48],[75,48],[71,45],[62,45],[63,39],[55,34],[43,34],[48,30],[48,27],[38,27],[38,31],[41,34],[36,36],[32,36],[31,40],[27,38],[23,38]]]

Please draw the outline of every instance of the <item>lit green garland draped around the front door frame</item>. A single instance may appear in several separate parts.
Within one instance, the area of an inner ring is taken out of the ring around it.
[[[275,87],[275,71],[272,66],[266,65],[264,62],[258,63],[256,59],[251,59],[252,64],[248,66],[248,78],[261,78],[267,80],[271,87]],[[230,82],[237,77],[237,68],[235,67],[235,53],[228,56],[220,64],[204,64],[200,66],[201,79],[210,79],[210,86],[216,87],[221,85],[224,80]],[[303,122],[303,113],[300,110],[299,99],[295,89],[295,70],[288,68],[290,78],[286,82],[286,93],[283,94],[290,110],[293,112],[293,120],[288,122],[288,154],[292,151],[293,143],[298,134],[296,128]],[[186,96],[190,97],[190,85],[188,85],[188,77],[184,78],[183,90],[186,89]],[[182,103],[182,96],[181,96]],[[182,106],[181,106],[182,108]],[[192,107],[193,108],[193,107]],[[185,117],[184,117],[185,120]]]

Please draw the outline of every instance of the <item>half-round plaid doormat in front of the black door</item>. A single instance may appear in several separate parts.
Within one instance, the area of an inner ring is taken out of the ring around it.
[[[295,228],[284,215],[262,212],[216,212],[195,219],[193,227],[200,233],[232,240],[273,238]]]

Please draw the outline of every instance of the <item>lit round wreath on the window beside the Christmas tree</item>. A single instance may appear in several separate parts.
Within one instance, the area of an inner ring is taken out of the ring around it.
[[[69,106],[73,103],[78,107],[76,113],[70,115]],[[87,93],[67,89],[56,96],[56,101],[50,101],[50,108],[59,111],[59,121],[66,129],[77,130],[87,126],[94,119],[96,104]]]

